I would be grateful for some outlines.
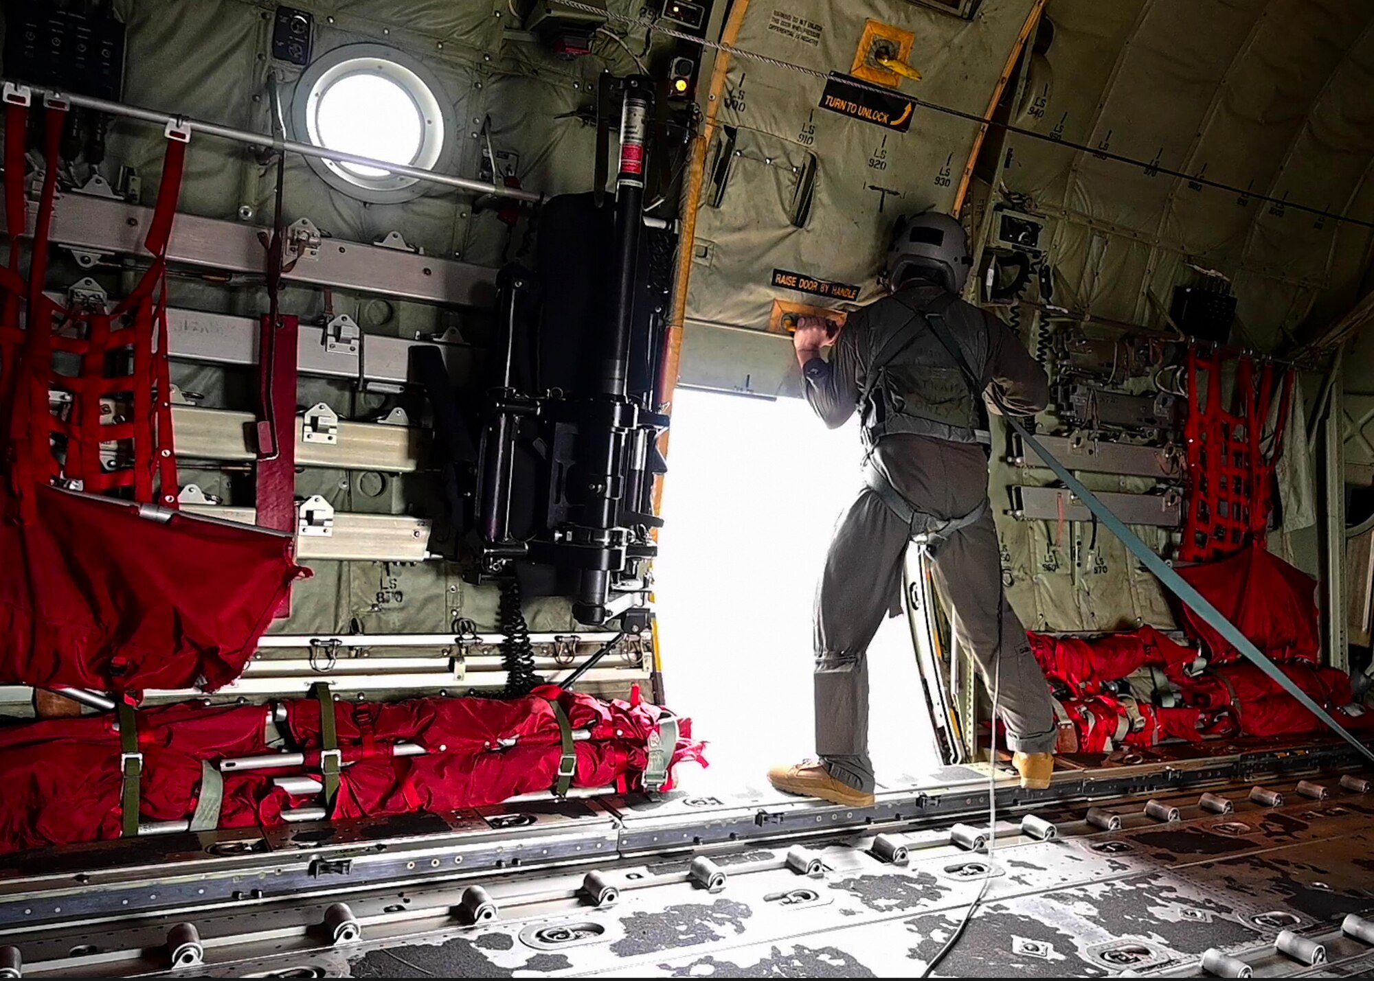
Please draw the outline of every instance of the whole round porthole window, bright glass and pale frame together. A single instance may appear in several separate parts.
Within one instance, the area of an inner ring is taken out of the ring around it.
[[[349,44],[312,62],[291,115],[302,143],[426,170],[442,169],[453,142],[453,113],[438,80],[381,44]],[[308,159],[330,185],[363,201],[396,203],[425,191],[416,179],[378,166]]]

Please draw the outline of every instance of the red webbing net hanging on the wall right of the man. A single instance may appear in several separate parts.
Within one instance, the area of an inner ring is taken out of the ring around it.
[[[1264,541],[1272,510],[1274,464],[1283,448],[1293,372],[1275,378],[1274,365],[1256,370],[1253,359],[1237,359],[1231,412],[1221,398],[1221,357],[1189,348],[1187,515],[1179,558],[1209,562],[1235,555],[1250,541]],[[1204,398],[1205,389],[1205,398]],[[1271,445],[1265,426],[1278,389],[1278,422]]]

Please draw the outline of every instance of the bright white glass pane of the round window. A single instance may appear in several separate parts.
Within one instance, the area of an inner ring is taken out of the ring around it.
[[[412,164],[425,142],[425,117],[411,95],[382,74],[344,76],[320,93],[316,109],[320,143],[359,157]],[[386,170],[339,164],[359,177],[385,177]]]

